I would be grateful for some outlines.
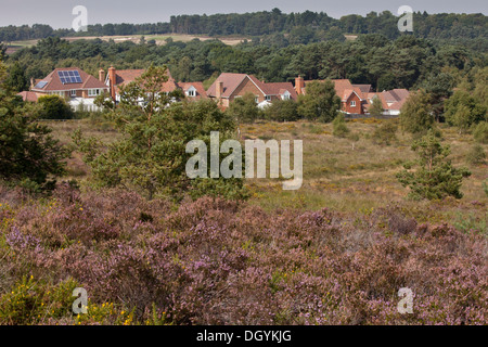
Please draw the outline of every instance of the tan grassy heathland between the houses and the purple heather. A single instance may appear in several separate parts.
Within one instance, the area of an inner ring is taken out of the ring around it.
[[[487,164],[470,165],[466,154],[474,144],[471,134],[460,136],[453,128],[440,127],[444,143],[451,146],[454,166],[466,166],[472,176],[463,181],[463,198],[442,202],[416,202],[407,198],[408,189],[401,187],[395,175],[406,160],[413,159],[410,134],[397,132],[391,145],[377,145],[372,139],[377,119],[348,121],[358,141],[332,136],[332,125],[308,121],[256,123],[241,127],[243,139],[303,140],[304,183],[297,191],[284,191],[277,179],[248,179],[251,204],[267,210],[277,208],[318,210],[323,207],[342,213],[369,214],[374,209],[398,204],[404,213],[419,221],[448,222],[460,228],[486,229],[488,198],[481,182],[488,178]],[[88,120],[49,123],[54,136],[69,143],[70,133],[81,128],[87,136],[104,141],[117,138],[110,124]],[[485,152],[488,146],[484,145]],[[78,153],[68,163],[70,178],[85,180],[88,168]]]

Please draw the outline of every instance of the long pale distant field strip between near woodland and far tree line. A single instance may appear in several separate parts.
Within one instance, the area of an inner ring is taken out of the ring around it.
[[[93,40],[93,39],[102,39],[104,41],[108,41],[108,40],[113,39],[115,42],[132,41],[132,42],[138,43],[141,40],[142,36],[145,38],[146,41],[155,40],[156,44],[165,44],[166,39],[168,39],[168,38],[172,38],[174,41],[182,41],[182,42],[189,42],[195,38],[197,38],[202,41],[215,39],[215,37],[184,35],[184,34],[127,35],[127,36],[80,36],[80,37],[64,37],[63,39],[66,39],[68,41]],[[235,44],[242,42],[243,40],[249,39],[249,38],[229,36],[229,37],[221,37],[218,39],[226,44],[235,46]],[[17,50],[23,49],[24,47],[35,46],[37,43],[37,41],[38,40],[12,41],[11,46],[9,46],[7,53],[12,54]]]

